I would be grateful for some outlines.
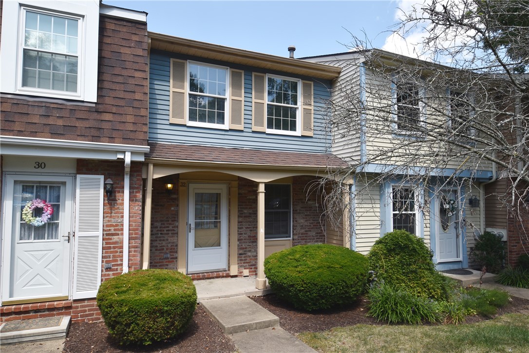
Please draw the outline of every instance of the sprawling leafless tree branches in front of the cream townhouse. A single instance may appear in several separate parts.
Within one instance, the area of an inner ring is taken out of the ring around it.
[[[351,196],[366,200],[369,185],[394,176],[431,195],[469,190],[480,170],[495,168],[509,182],[494,197],[510,215],[529,217],[529,1],[430,0],[391,35],[418,31],[421,42],[408,43],[414,58],[357,50],[368,43],[353,38],[357,59],[343,70],[364,70],[365,81],[352,75],[334,87],[330,123],[335,146],[367,148],[342,155],[349,166],[332,171],[338,182],[327,194],[329,215],[351,194],[353,178],[363,187]],[[419,206],[427,212],[428,205],[425,193]],[[529,242],[529,230],[520,233]]]

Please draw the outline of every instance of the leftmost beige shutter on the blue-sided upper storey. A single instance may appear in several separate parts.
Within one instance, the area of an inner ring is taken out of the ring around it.
[[[187,111],[187,61],[171,59],[169,123],[185,124]]]

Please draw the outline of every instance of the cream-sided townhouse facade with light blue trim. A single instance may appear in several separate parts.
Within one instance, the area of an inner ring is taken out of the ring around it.
[[[370,66],[370,55],[385,67],[383,75]],[[424,239],[437,269],[476,266],[473,245],[485,231],[480,195],[492,179],[492,166],[455,150],[451,154],[449,139],[432,138],[435,129],[452,130],[453,141],[461,143],[460,120],[450,112],[462,111],[463,96],[457,98],[462,93],[450,86],[428,88],[431,64],[381,50],[303,59],[342,67],[333,83],[332,152],[351,166],[352,248],[366,254],[386,232],[404,229]],[[402,74],[412,65],[413,80]],[[463,121],[473,118],[470,110],[464,114]]]

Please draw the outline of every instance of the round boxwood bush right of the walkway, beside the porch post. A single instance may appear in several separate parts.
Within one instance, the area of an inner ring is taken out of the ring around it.
[[[342,247],[298,245],[267,257],[265,274],[276,295],[295,307],[328,309],[350,304],[363,292],[368,261]]]

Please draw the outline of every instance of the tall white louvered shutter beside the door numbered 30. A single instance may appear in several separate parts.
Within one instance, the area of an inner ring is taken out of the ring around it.
[[[76,192],[73,297],[95,298],[101,284],[103,176],[78,175]]]

